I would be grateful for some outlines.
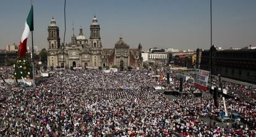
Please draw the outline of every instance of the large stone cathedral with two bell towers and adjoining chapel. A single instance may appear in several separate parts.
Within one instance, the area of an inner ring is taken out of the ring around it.
[[[71,42],[60,43],[59,27],[52,19],[48,26],[48,67],[112,67],[126,69],[127,67],[142,68],[142,45],[130,48],[120,37],[112,49],[103,49],[100,37],[100,25],[93,17],[90,25],[90,38],[83,35],[80,28],[78,36],[71,36]]]

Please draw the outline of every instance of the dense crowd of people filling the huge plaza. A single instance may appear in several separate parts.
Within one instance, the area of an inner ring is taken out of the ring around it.
[[[227,99],[229,112],[251,122],[250,127],[219,127],[200,118],[220,109],[205,98],[168,99],[155,86],[166,82],[148,70],[103,73],[98,70],[48,70],[51,77],[36,88],[0,85],[0,136],[255,136],[255,105]],[[177,88],[173,83],[170,87]],[[194,86],[184,83],[184,90]],[[226,85],[237,97],[236,86]],[[7,92],[8,91],[8,92]],[[253,92],[253,91],[252,91]],[[249,99],[250,100],[250,99]],[[220,106],[222,102],[220,102]],[[211,108],[213,107],[213,108]]]

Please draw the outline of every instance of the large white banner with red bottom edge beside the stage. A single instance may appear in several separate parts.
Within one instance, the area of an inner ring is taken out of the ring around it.
[[[197,77],[195,77],[195,87],[207,90],[209,72],[205,70],[198,70]]]

